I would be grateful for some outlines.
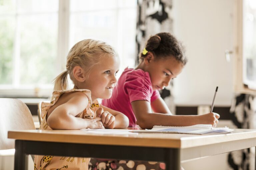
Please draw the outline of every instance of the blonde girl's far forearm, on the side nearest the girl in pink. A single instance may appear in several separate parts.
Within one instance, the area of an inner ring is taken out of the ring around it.
[[[101,105],[104,111],[108,111],[115,117],[115,125],[113,128],[127,128],[129,126],[129,119],[123,113],[110,109]]]

